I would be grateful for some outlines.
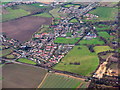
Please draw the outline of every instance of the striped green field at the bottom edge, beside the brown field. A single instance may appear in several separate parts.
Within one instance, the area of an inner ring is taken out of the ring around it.
[[[40,88],[77,88],[82,80],[49,73]]]

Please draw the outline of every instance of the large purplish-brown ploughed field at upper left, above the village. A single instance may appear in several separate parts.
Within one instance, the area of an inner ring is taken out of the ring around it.
[[[9,38],[24,42],[29,40],[41,25],[51,23],[52,18],[27,16],[2,23],[2,32],[6,33]]]

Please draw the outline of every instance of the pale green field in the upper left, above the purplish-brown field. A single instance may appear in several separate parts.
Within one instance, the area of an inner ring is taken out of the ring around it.
[[[9,12],[8,14],[3,14],[2,15],[2,21],[7,21],[15,18],[19,18],[22,16],[26,16],[30,14],[29,12],[23,10],[23,9],[11,9],[11,8],[6,8],[6,10]]]

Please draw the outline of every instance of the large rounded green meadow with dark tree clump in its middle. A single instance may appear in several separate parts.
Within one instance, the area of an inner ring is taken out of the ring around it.
[[[74,62],[80,63],[80,65],[70,64]],[[96,53],[91,53],[86,46],[75,46],[70,52],[68,52],[61,62],[53,68],[56,70],[90,76],[98,65],[99,59]]]

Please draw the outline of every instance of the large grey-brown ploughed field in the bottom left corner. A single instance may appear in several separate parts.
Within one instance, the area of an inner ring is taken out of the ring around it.
[[[37,88],[47,71],[22,64],[7,64],[2,67],[3,88]]]

